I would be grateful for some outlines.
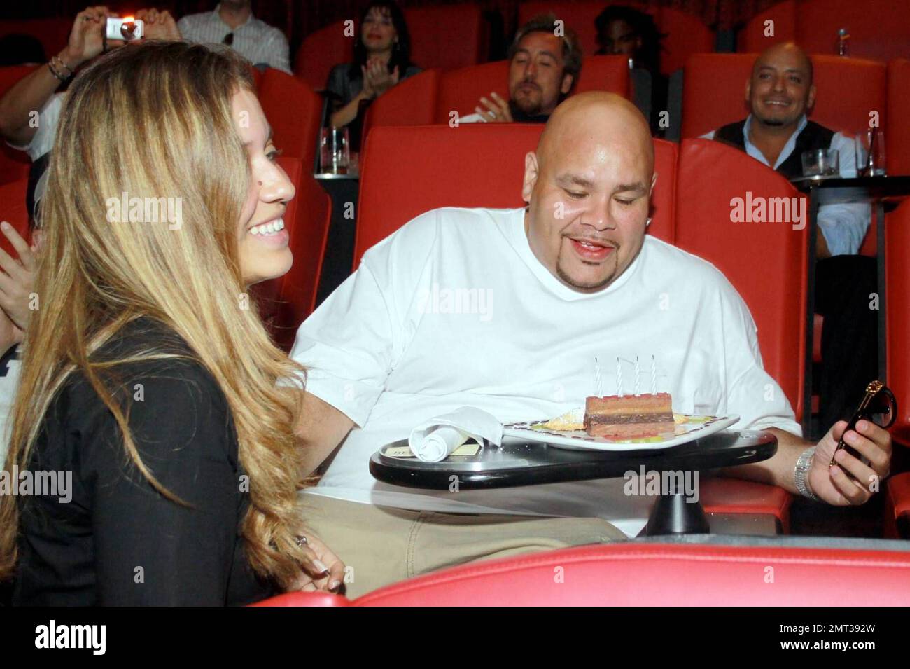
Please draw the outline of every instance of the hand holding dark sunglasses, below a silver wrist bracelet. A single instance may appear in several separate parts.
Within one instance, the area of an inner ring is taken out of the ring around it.
[[[824,502],[835,506],[864,504],[873,495],[870,486],[875,491],[879,490],[881,481],[891,471],[891,435],[884,428],[866,420],[858,421],[856,430],[848,431],[844,441],[863,455],[869,464],[842,449],[834,457],[834,466],[829,469],[831,456],[834,455],[846,426],[846,421],[837,421],[822,441],[818,442],[806,477],[812,492]],[[847,472],[856,480],[850,478]]]

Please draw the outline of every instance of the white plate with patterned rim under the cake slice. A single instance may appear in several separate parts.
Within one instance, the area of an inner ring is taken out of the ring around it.
[[[726,430],[739,421],[739,416],[686,416],[690,421],[677,424],[675,433],[667,432],[659,437],[632,440],[610,440],[603,437],[591,437],[583,430],[547,430],[534,428],[549,421],[512,422],[502,426],[502,436],[523,441],[541,441],[570,451],[651,451],[668,449],[689,441],[707,437],[709,434]]]

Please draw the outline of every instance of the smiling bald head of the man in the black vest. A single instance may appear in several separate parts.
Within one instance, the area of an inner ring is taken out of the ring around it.
[[[767,49],[755,61],[745,99],[764,126],[795,126],[815,102],[809,57],[793,44]]]

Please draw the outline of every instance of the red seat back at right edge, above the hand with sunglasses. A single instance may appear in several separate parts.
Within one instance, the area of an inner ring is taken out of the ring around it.
[[[887,215],[885,224],[885,286],[887,300],[887,380],[897,400],[895,438],[910,446],[910,200]]]

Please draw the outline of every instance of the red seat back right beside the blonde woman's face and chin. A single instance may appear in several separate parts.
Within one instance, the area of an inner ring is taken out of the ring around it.
[[[288,202],[285,227],[294,265],[283,277],[257,284],[259,313],[278,345],[290,350],[301,322],[316,309],[316,291],[329,239],[331,200],[299,158],[282,156],[278,164],[288,173],[297,195]]]

